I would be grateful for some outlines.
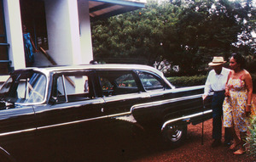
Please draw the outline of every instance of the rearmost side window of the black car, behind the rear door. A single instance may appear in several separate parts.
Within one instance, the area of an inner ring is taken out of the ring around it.
[[[164,81],[156,75],[143,71],[138,71],[137,74],[142,81],[145,90],[150,91],[164,89]]]

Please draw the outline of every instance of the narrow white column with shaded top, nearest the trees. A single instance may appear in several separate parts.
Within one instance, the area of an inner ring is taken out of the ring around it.
[[[89,64],[93,59],[91,32],[90,32],[90,14],[89,1],[78,0],[79,4],[79,25],[82,64]]]

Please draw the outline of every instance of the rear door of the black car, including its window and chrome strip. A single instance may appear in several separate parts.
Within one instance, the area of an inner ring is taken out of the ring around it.
[[[142,92],[143,87],[133,70],[97,70],[96,75],[105,100],[104,112],[110,118],[131,115],[134,106],[149,98],[147,92]]]

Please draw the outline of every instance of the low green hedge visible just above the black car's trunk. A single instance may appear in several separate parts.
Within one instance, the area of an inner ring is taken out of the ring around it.
[[[205,85],[207,75],[194,75],[194,76],[173,76],[167,77],[167,80],[175,87],[190,87]]]

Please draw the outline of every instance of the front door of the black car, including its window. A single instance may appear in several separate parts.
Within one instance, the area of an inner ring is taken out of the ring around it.
[[[65,71],[53,75],[49,104],[35,107],[38,132],[75,137],[91,123],[104,120],[102,98],[96,98],[93,71]],[[107,118],[107,117],[106,117]]]

